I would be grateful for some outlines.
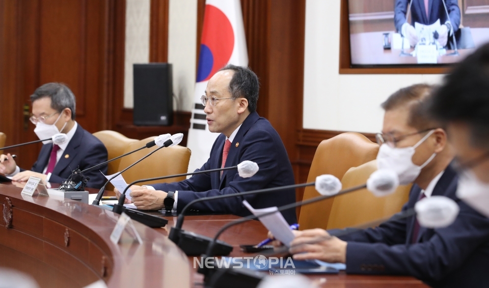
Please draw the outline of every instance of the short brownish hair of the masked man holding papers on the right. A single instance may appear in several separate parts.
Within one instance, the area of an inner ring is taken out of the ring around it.
[[[408,125],[418,130],[438,128],[440,124],[434,121],[426,113],[423,107],[431,97],[433,86],[429,84],[414,84],[401,88],[394,92],[384,103],[381,104],[385,111],[393,110],[401,106],[409,106]]]

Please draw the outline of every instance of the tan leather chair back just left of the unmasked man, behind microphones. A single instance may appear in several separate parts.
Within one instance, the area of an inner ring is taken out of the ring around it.
[[[154,140],[155,137],[149,137],[138,142],[131,143],[127,148],[127,152],[135,150],[138,147],[142,147],[147,142]],[[141,151],[132,153],[121,159],[119,165],[119,171],[128,167],[132,163],[143,158],[148,153],[156,150],[158,147],[155,146],[149,149],[143,149]],[[190,161],[190,149],[182,146],[173,146],[167,148],[161,148],[153,155],[134,165],[125,171],[122,176],[126,180],[127,184],[132,181],[146,178],[154,178],[159,176],[183,174],[187,172],[188,161]],[[185,180],[186,177],[170,178],[165,180],[158,180],[152,182],[139,183],[137,185],[145,185],[151,183],[169,183]]]

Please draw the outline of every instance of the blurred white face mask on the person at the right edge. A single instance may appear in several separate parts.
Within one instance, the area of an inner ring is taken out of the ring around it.
[[[459,175],[456,195],[479,213],[489,217],[489,183],[480,181],[472,171]]]

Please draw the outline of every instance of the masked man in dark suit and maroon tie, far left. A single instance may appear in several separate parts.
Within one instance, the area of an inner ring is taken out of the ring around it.
[[[107,150],[100,140],[85,131],[75,121],[75,96],[64,84],[47,83],[31,95],[31,122],[39,139],[47,139],[57,133],[66,133],[68,141],[53,145],[46,141],[31,170],[17,166],[10,154],[0,156],[0,172],[12,176],[13,181],[27,181],[31,176],[44,182],[63,183],[72,169],[86,169],[107,161]],[[100,188],[105,182],[107,166],[87,172],[87,187]]]

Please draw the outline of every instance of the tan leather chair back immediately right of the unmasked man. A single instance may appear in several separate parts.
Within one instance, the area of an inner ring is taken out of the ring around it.
[[[347,132],[331,139],[323,140],[316,149],[307,182],[314,182],[322,174],[331,174],[341,179],[351,167],[375,159],[378,145],[360,133]],[[314,187],[306,187],[303,200],[319,196]],[[333,198],[309,204],[301,208],[300,229],[323,228],[333,205]]]

